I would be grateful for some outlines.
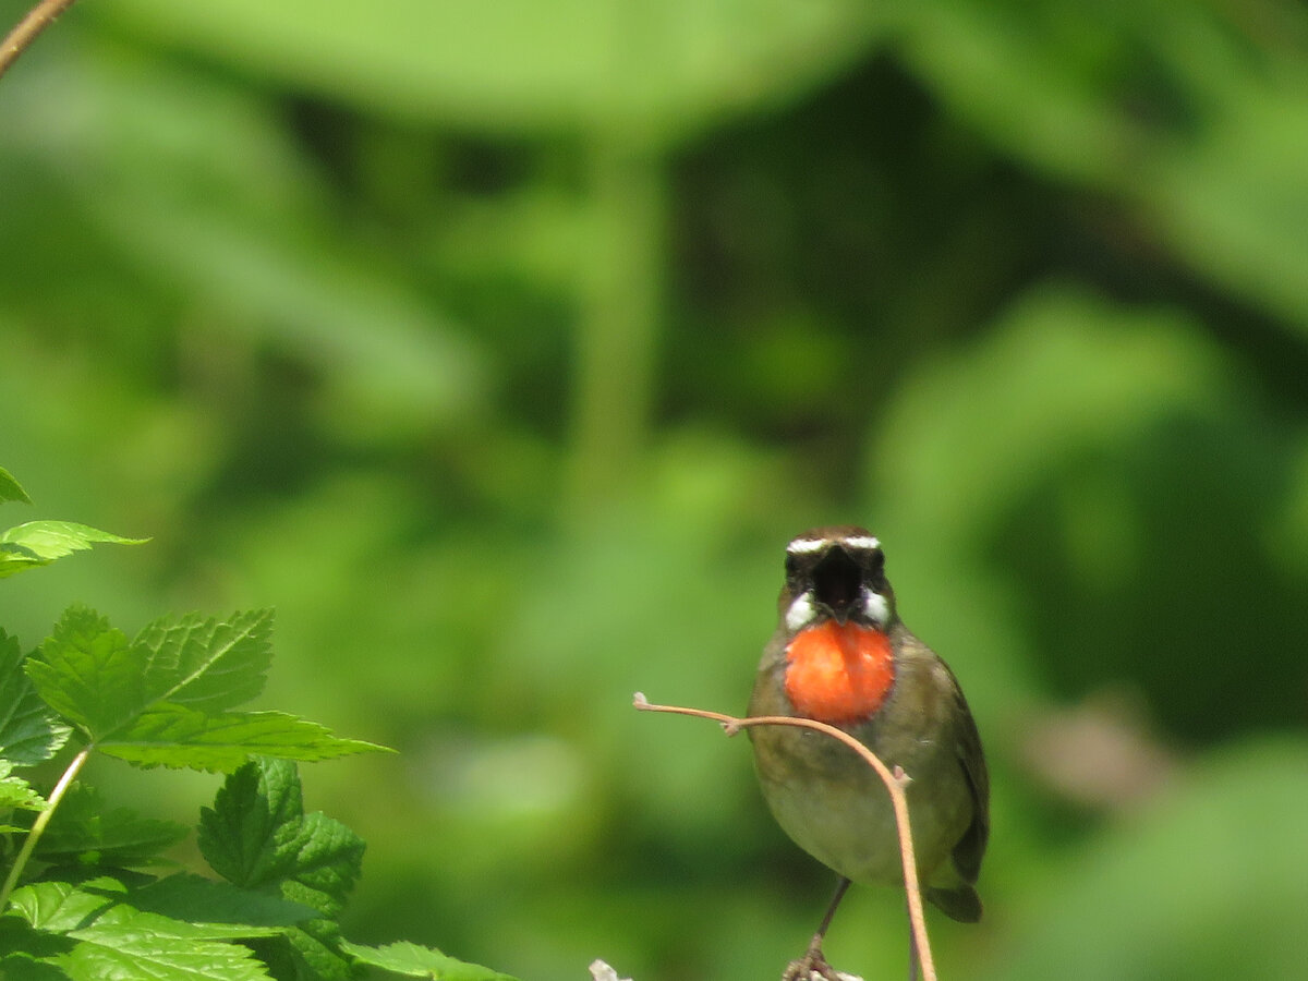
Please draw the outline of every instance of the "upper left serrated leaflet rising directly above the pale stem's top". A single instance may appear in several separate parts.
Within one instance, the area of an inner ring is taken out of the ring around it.
[[[24,662],[46,704],[93,742],[145,706],[145,667],[123,632],[86,607],[69,607],[38,654]]]

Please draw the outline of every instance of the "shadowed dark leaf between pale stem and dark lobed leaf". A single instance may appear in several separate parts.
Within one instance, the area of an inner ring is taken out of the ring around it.
[[[75,785],[42,835],[37,855],[55,865],[156,865],[161,852],[188,833],[177,821],[141,818],[126,807],[106,810],[98,790]]]

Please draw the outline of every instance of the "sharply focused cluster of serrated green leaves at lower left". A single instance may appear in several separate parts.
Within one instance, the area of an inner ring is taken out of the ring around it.
[[[86,540],[126,540],[95,535]],[[190,615],[128,641],[72,607],[27,658],[0,632],[0,833],[21,841],[3,866],[0,976],[348,981],[357,964],[413,973],[341,938],[336,921],[364,842],[322,812],[305,814],[294,764],[385,747],[284,713],[233,710],[264,685],[271,632],[269,611]],[[73,734],[82,747],[47,797],[14,774]],[[93,751],[140,768],[226,772],[198,833],[221,878],[146,871],[173,865],[167,852],[188,828],[110,807],[75,782]],[[426,976],[505,977],[449,957]]]

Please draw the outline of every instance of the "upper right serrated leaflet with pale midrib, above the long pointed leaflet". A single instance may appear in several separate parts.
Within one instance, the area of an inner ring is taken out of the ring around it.
[[[263,691],[271,636],[272,611],[252,610],[226,620],[198,613],[156,620],[132,644],[148,651],[145,687],[154,698],[213,713]]]

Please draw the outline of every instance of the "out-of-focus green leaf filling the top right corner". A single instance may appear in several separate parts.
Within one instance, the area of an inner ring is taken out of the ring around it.
[[[1250,43],[1218,5],[1162,0],[904,10],[909,63],[998,146],[1118,196],[1202,275],[1308,330],[1300,27]]]

